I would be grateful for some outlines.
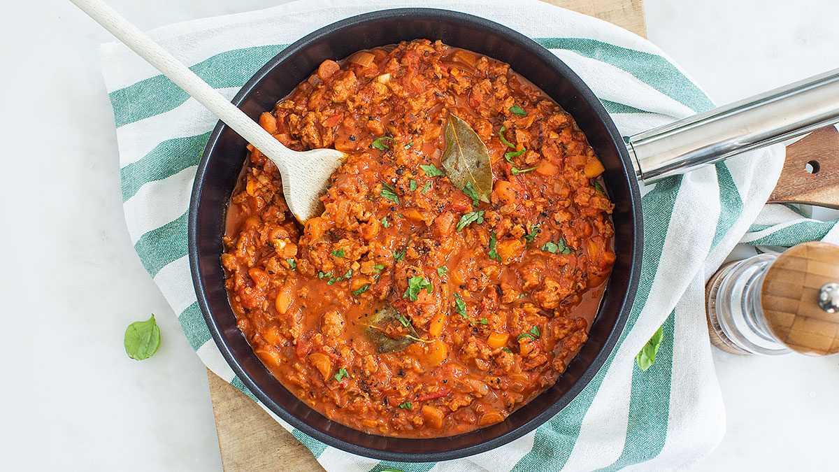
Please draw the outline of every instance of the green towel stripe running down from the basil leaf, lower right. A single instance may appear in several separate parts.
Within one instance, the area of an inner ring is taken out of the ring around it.
[[[635,364],[632,394],[629,398],[629,421],[623,453],[602,471],[620,470],[639,464],[661,453],[667,439],[670,419],[670,380],[673,376],[673,333],[675,310],[664,321],[664,336],[655,362],[644,372]]]

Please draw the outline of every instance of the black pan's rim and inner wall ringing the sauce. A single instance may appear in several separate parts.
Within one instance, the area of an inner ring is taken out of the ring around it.
[[[278,25],[280,27],[281,25]],[[561,34],[557,31],[556,34]],[[596,374],[611,352],[629,308],[641,260],[640,198],[623,139],[601,103],[564,63],[521,34],[488,20],[429,8],[367,13],[327,26],[290,45],[253,76],[233,103],[256,119],[309,76],[322,60],[399,41],[441,39],[513,66],[576,119],[606,168],[616,203],[613,221],[618,259],[588,342],[555,385],[504,422],[451,438],[387,438],[332,422],[285,390],[263,367],[236,326],[224,289],[221,236],[247,144],[222,123],[216,126],[195,177],[190,204],[190,268],[201,311],[221,354],[268,408],[304,433],[333,447],[377,459],[427,462],[477,454],[519,438],[553,417]],[[266,444],[266,448],[274,445]]]

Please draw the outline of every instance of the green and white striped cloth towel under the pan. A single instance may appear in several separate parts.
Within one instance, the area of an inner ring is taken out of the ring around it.
[[[233,97],[284,45],[341,18],[404,6],[472,13],[536,39],[591,86],[623,134],[713,106],[646,40],[534,0],[437,0],[420,5],[306,0],[176,24],[151,35],[223,95]],[[122,200],[134,247],[201,360],[248,393],[210,338],[195,302],[186,255],[190,188],[216,118],[124,46],[103,45],[101,57],[117,125]],[[720,442],[725,429],[706,333],[704,282],[758,217],[782,160],[782,150],[764,149],[644,189],[643,274],[618,347],[580,396],[534,433],[467,459],[392,464],[327,447],[275,419],[328,470],[689,468]],[[764,213],[766,221],[756,223],[759,226],[749,233],[753,244],[789,245],[821,238],[826,227],[820,225],[829,224],[801,221],[784,227],[791,210]],[[649,370],[638,370],[635,354],[662,324],[658,359]]]

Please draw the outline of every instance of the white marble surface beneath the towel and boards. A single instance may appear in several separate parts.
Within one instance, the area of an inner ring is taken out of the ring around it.
[[[282,2],[110,3],[151,29]],[[834,0],[646,6],[650,39],[718,102],[839,67]],[[3,7],[2,468],[221,469],[205,370],[122,222],[117,146],[95,55],[109,38],[62,0]],[[122,333],[150,312],[163,345],[135,362]],[[716,361],[728,432],[700,469],[836,467],[839,359],[717,353]]]

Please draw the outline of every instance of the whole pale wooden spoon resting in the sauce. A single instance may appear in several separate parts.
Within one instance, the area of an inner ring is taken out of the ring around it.
[[[323,206],[320,194],[332,173],[341,165],[345,155],[336,149],[312,149],[293,151],[271,134],[268,134],[248,115],[234,107],[227,98],[201,78],[175,56],[170,55],[149,36],[117,13],[102,0],[70,0],[87,13],[96,23],[110,31],[123,44],[134,50],[178,87],[216,115],[227,126],[233,128],[242,138],[256,146],[277,165],[283,178],[283,193],[294,217],[305,223],[309,218],[320,215]]]

